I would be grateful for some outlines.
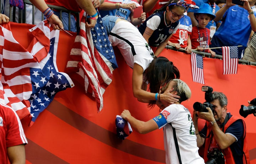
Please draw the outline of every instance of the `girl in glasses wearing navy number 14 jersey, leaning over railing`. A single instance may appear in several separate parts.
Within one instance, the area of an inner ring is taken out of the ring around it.
[[[184,17],[188,7],[184,0],[171,0],[163,7],[155,10],[144,23],[139,26],[139,31],[150,46],[158,45],[154,54],[158,56],[167,45],[172,34],[176,33],[180,24],[179,20]]]

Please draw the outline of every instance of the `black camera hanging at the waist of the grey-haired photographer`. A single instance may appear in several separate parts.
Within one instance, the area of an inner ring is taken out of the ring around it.
[[[208,161],[206,164],[225,164],[224,155],[218,148],[213,148],[207,154]]]

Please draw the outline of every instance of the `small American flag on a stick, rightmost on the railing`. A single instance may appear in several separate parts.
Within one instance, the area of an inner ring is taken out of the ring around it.
[[[223,75],[237,74],[238,69],[238,47],[222,47]]]

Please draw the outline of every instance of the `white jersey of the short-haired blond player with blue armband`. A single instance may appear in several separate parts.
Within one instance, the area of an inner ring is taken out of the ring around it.
[[[177,164],[178,157],[175,147],[174,130],[182,164],[204,164],[203,158],[198,154],[196,135],[191,113],[183,105],[172,104],[165,108],[170,113],[167,124],[164,126],[164,146],[166,164]],[[169,124],[171,123],[171,125]]]

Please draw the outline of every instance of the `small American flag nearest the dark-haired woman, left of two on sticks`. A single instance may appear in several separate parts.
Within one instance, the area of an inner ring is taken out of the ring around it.
[[[193,81],[204,84],[203,57],[194,52],[191,53],[191,69]]]

